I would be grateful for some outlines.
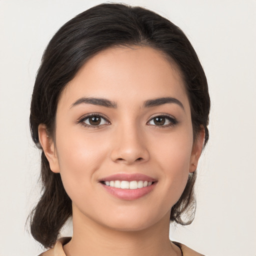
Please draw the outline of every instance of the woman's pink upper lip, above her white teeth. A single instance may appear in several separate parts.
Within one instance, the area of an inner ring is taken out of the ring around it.
[[[143,181],[156,181],[155,178],[147,176],[142,173],[116,173],[107,177],[101,178],[99,181],[111,181],[111,180],[143,180]]]

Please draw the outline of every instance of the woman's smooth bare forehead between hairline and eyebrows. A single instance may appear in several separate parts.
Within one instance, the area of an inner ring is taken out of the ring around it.
[[[148,46],[116,46],[91,57],[66,85],[59,104],[70,106],[82,96],[108,98],[118,104],[171,96],[184,106],[188,103],[177,65]]]

